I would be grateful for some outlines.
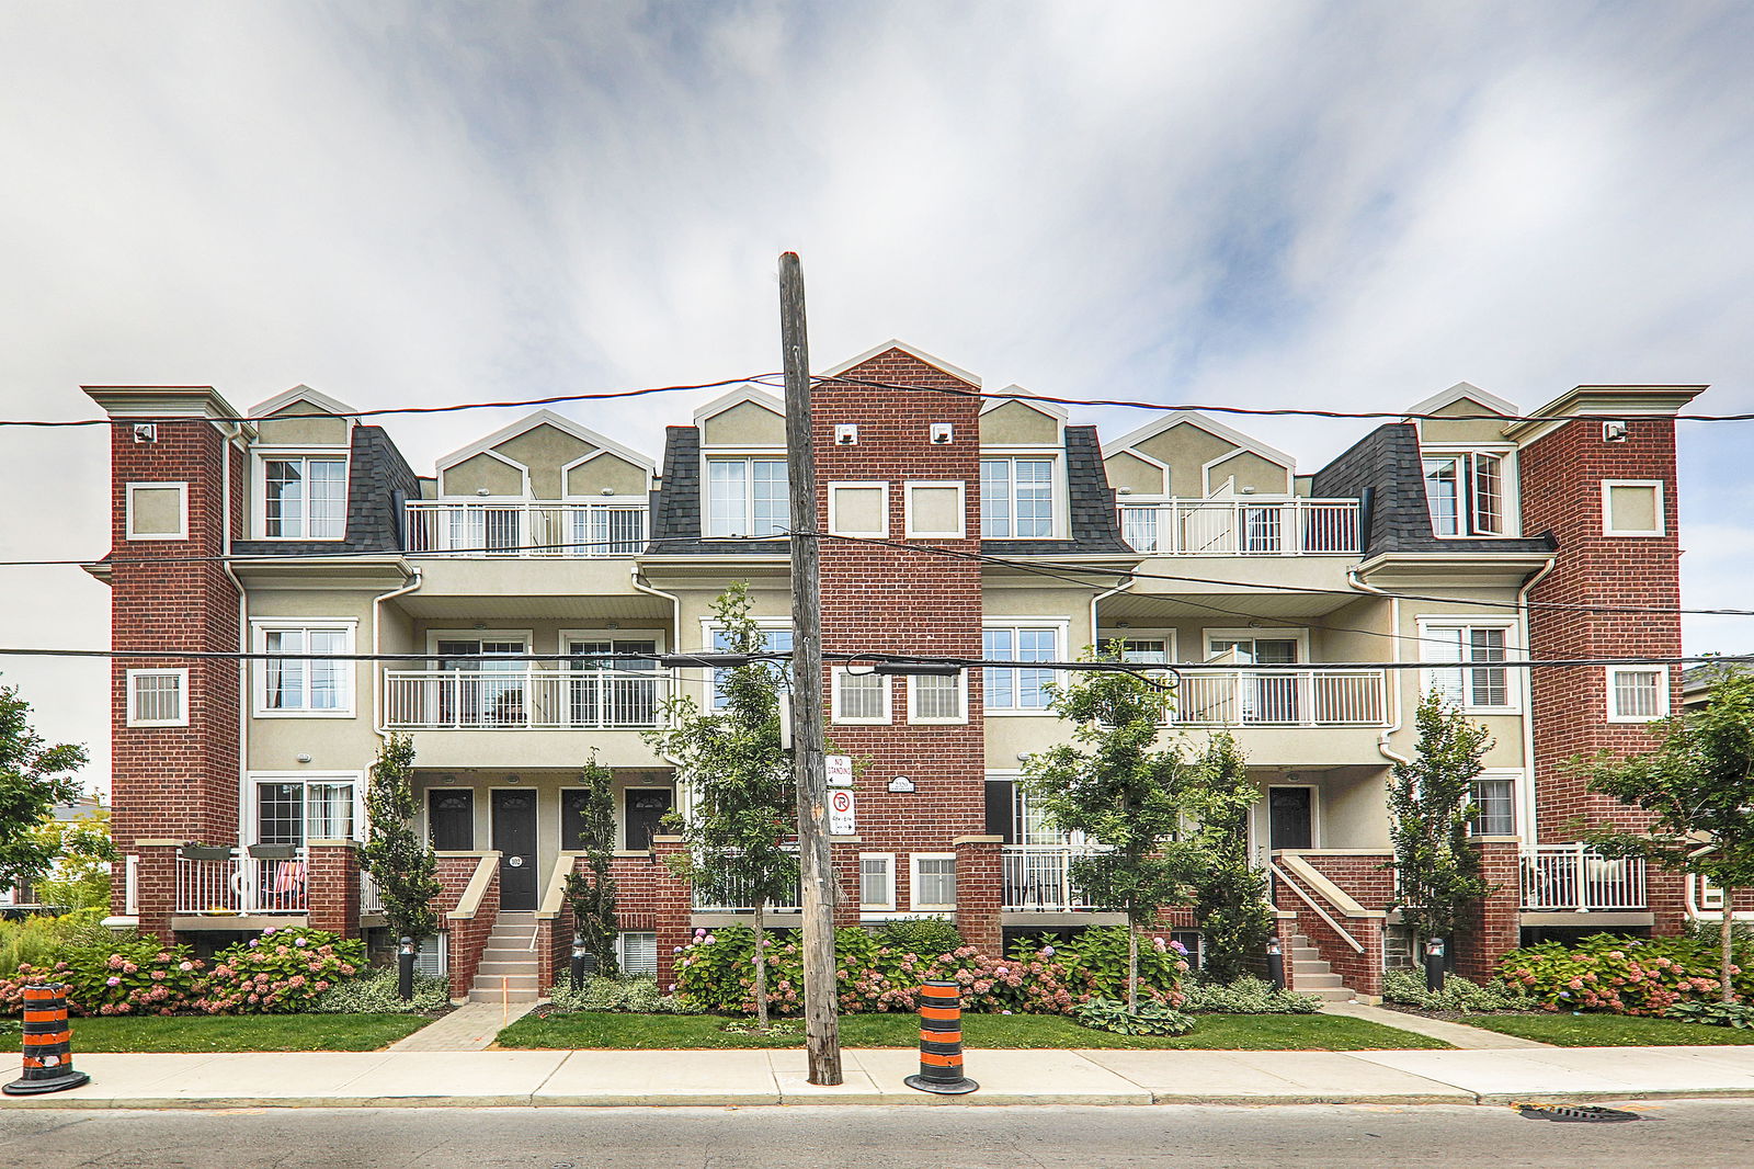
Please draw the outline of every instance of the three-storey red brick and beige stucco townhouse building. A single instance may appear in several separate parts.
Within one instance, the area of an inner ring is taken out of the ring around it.
[[[1698,909],[1680,881],[1577,844],[1579,820],[1628,813],[1563,767],[1640,746],[1677,672],[1505,663],[1679,655],[1661,611],[1679,606],[1673,414],[1701,386],[1579,386],[1517,421],[1459,384],[1303,472],[1193,412],[1105,441],[902,342],[824,372],[847,377],[816,391],[824,648],[1014,663],[824,671],[833,742],[863,760],[833,841],[842,923],[938,914],[996,946],[1119,920],[1070,881],[1093,843],[1017,785],[1068,732],[1031,663],[1098,641],[1198,667],[1165,734],[1193,751],[1228,728],[1247,753],[1300,988],[1368,999],[1408,958],[1386,783],[1430,688],[1493,734],[1477,830],[1498,888],[1456,939],[1465,971],[1533,932],[1666,930]],[[393,734],[414,741],[444,879],[426,960],[460,993],[533,995],[561,969],[588,758],[614,772],[630,969],[667,976],[693,929],[747,914],[663,864],[688,792],[642,730],[672,695],[712,707],[710,669],[661,658],[716,648],[728,583],[791,646],[777,398],[721,397],[656,456],[537,411],[423,476],[305,386],[251,423],[205,386],[86,393],[118,423],[112,548],[89,570],[114,648],[161,655],[114,665],[112,922],[196,944],[381,925],[358,841]],[[258,656],[223,656],[239,649]],[[1198,946],[1186,909],[1165,929]]]

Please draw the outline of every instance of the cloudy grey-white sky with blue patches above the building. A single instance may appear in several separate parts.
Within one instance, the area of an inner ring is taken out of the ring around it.
[[[796,249],[817,365],[905,337],[1073,397],[1749,411],[1750,46],[1738,4],[0,0],[0,400],[768,370]],[[586,421],[656,453],[691,405]],[[389,425],[430,470],[505,421]],[[1361,427],[1252,430],[1314,469]],[[0,558],[100,556],[107,437],[0,449]],[[1682,434],[1687,604],[1749,606],[1749,449]],[[107,644],[103,586],[0,572],[0,644]],[[103,667],[4,671],[102,774]]]

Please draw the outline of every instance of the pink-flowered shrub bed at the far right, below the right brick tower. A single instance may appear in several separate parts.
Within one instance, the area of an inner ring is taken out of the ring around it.
[[[1677,1002],[1721,993],[1717,944],[1694,937],[1615,937],[1542,943],[1512,950],[1498,962],[1498,979],[1521,986],[1549,1011],[1663,1015]],[[1754,972],[1729,965],[1731,990],[1754,993]]]

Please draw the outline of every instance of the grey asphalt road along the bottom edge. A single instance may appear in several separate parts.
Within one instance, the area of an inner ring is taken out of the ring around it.
[[[5,1169],[737,1169],[907,1165],[1747,1165],[1754,1101],[1508,1108],[540,1108],[0,1111]]]

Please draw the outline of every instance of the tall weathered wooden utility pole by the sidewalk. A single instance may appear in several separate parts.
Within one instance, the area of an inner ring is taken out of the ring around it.
[[[810,342],[798,253],[779,258],[779,337],[786,370],[786,479],[791,490],[791,774],[798,785],[798,874],[803,886],[803,1044],[810,1083],[840,1083],[835,985],[835,860],[828,846],[823,764],[823,574],[816,539],[816,448],[810,442]]]

